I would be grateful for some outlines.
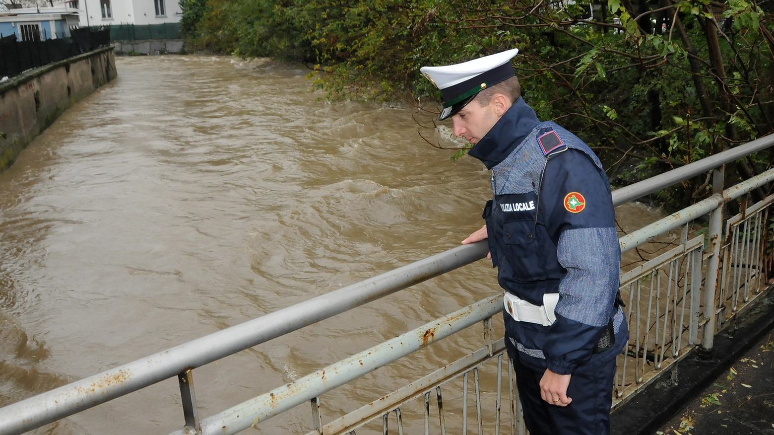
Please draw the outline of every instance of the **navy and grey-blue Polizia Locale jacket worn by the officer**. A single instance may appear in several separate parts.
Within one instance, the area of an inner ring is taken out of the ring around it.
[[[605,331],[615,358],[628,337],[615,305],[621,252],[610,184],[577,136],[539,122],[522,98],[469,152],[492,170],[484,211],[492,262],[506,291],[535,305],[560,293],[549,327],[505,315],[506,342],[536,370],[567,375],[587,364]]]

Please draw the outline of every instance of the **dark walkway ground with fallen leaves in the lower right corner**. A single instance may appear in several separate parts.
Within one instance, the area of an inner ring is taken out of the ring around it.
[[[711,354],[694,349],[616,409],[611,433],[774,435],[774,291],[717,334]]]

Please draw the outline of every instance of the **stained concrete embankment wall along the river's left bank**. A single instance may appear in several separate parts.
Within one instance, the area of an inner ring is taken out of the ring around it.
[[[76,101],[118,77],[113,47],[29,70],[0,84],[0,171]]]

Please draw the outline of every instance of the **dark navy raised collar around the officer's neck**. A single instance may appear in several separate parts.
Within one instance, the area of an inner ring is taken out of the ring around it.
[[[533,108],[519,97],[467,154],[481,160],[486,169],[491,170],[508,157],[539,122]]]

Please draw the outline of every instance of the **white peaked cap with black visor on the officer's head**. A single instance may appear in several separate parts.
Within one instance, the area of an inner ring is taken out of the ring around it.
[[[420,68],[444,95],[444,111],[439,120],[460,111],[478,92],[513,77],[509,61],[518,53],[519,49],[515,48],[454,65]]]

